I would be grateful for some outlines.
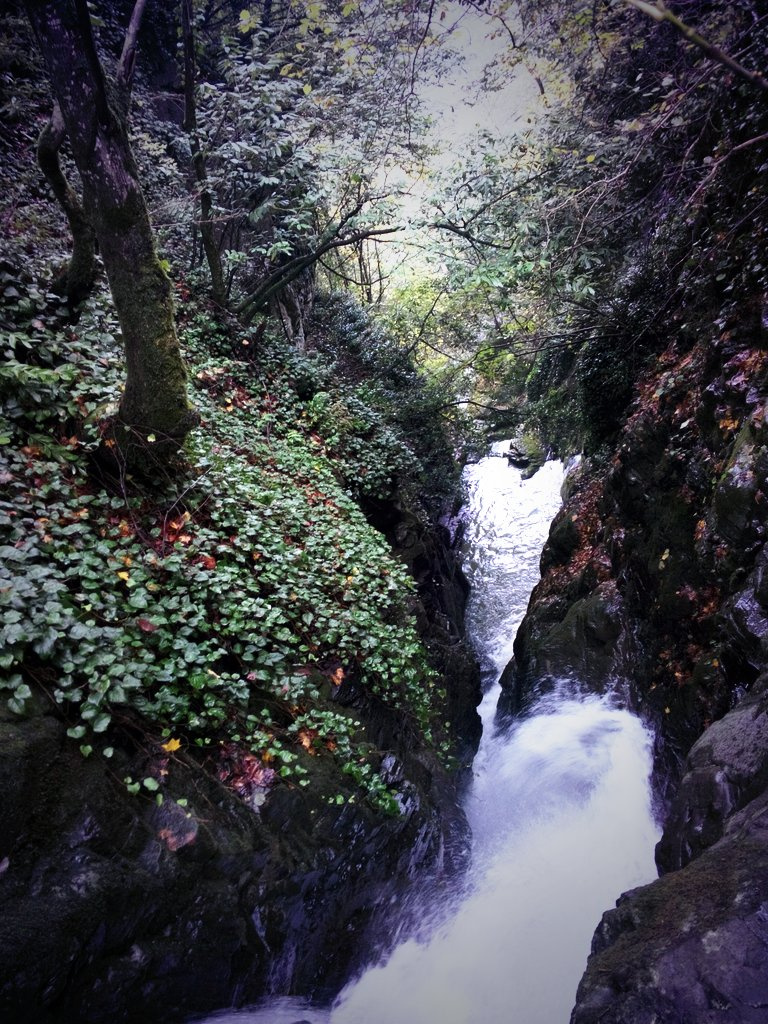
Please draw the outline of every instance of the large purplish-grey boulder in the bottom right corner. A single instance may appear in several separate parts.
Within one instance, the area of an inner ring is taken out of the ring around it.
[[[571,1024],[764,1024],[768,801],[681,871],[603,915]]]

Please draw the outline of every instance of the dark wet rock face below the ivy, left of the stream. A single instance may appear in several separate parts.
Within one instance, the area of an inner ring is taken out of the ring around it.
[[[451,618],[466,585],[430,537],[418,547],[434,559],[433,596],[416,610],[427,643],[451,650],[466,753],[479,681]],[[270,991],[330,996],[364,950],[385,948],[386,908],[400,914],[422,882],[467,866],[461,773],[403,716],[346,683],[338,699],[390,752],[401,815],[329,803],[340,779],[319,765],[306,791],[274,787],[254,810],[194,759],[169,758],[137,720],[116,731],[108,763],[84,760],[43,710],[0,712],[0,1019],[145,1024]],[[122,781],[151,769],[168,772],[160,807]]]

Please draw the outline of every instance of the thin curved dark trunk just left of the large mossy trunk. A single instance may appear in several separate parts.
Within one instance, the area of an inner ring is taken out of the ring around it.
[[[54,103],[50,121],[38,139],[37,161],[72,231],[72,258],[54,283],[54,290],[66,295],[70,305],[76,305],[90,293],[96,280],[96,236],[77,193],[61,170],[58,153],[66,134],[61,111],[58,103]]]

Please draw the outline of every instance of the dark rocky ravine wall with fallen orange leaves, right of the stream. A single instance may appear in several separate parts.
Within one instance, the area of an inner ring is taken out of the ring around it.
[[[604,915],[572,1024],[768,1014],[764,322],[731,309],[638,380],[612,454],[566,481],[504,675],[502,715],[568,678],[656,735],[663,877]]]

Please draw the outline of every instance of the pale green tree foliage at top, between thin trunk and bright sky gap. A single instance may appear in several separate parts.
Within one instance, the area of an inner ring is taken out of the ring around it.
[[[385,178],[425,152],[416,86],[442,72],[447,32],[431,7],[393,0],[200,5],[195,31],[194,144],[228,291],[252,316],[319,259],[346,280],[340,250],[393,230]]]

